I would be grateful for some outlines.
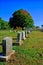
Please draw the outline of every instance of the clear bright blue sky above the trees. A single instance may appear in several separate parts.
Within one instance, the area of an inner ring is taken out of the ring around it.
[[[9,21],[12,13],[19,9],[31,14],[35,26],[43,24],[43,0],[0,0],[0,17],[3,20]]]

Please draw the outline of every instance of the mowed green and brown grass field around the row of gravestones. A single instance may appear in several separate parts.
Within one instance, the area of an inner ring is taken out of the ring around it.
[[[6,36],[16,38],[17,33],[0,31],[0,42]],[[9,61],[7,65],[43,65],[43,32],[31,32],[28,34],[28,38],[23,41],[23,45],[13,46],[13,49],[16,51],[12,57],[14,62]]]

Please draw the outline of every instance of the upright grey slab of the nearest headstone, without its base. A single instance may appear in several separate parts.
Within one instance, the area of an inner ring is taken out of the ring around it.
[[[10,37],[5,37],[2,40],[3,56],[7,56],[12,52],[12,39]]]

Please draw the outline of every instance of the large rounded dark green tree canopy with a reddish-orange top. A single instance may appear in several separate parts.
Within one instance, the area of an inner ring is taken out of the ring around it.
[[[15,11],[9,20],[9,25],[13,28],[18,27],[33,27],[34,21],[27,11],[20,9]]]

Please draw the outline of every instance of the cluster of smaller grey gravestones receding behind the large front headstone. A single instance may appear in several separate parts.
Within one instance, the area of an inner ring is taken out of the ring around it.
[[[22,31],[22,32],[18,32],[18,35],[17,35],[17,42],[18,44],[22,44],[22,40],[25,40],[27,38],[27,34],[29,34],[30,31]]]

